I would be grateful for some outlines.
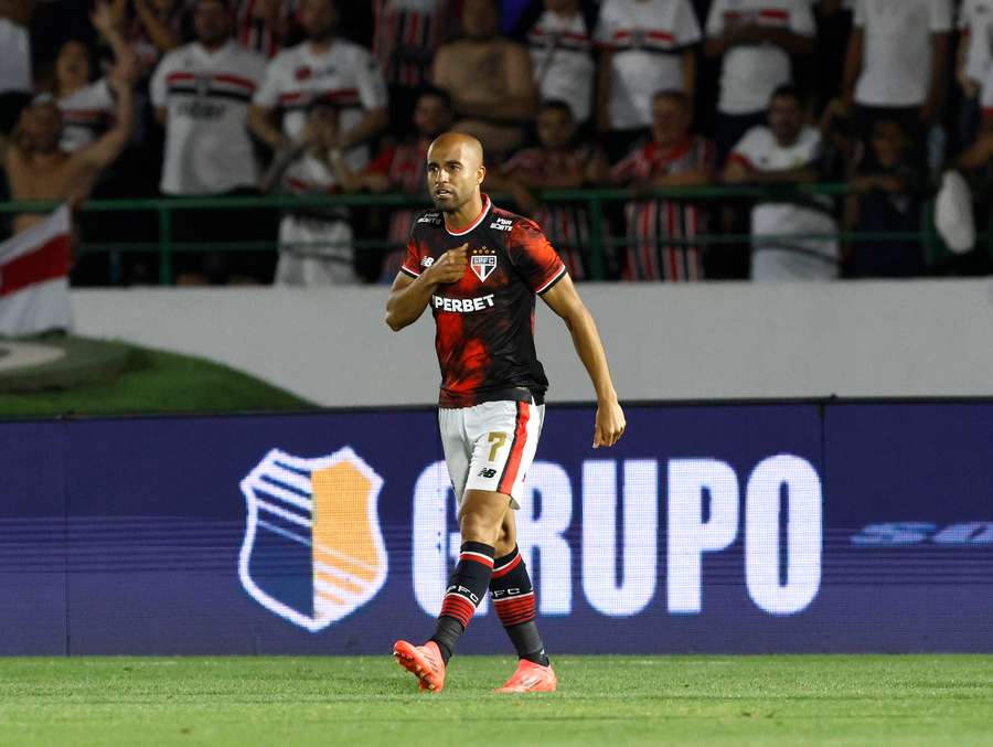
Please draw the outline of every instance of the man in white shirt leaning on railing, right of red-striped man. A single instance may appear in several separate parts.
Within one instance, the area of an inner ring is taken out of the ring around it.
[[[783,86],[769,102],[769,124],[750,129],[724,171],[728,184],[819,181],[820,132],[803,124],[799,92]],[[837,224],[830,198],[759,202],[751,211],[751,279],[829,280],[837,277]]]

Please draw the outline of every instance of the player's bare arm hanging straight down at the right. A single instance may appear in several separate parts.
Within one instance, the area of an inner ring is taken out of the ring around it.
[[[624,412],[617,401],[617,391],[613,388],[610,369],[607,366],[607,353],[604,351],[604,343],[600,341],[592,314],[579,298],[568,275],[544,292],[542,299],[562,317],[569,329],[576,353],[586,366],[597,392],[597,424],[592,447],[596,449],[601,446],[613,446],[624,433],[627,423]]]

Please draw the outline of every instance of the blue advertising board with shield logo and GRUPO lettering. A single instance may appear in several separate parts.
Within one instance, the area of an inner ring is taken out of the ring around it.
[[[991,651],[991,405],[549,408],[559,652]],[[388,653],[458,555],[429,410],[0,424],[0,653]],[[13,633],[11,633],[13,631]],[[509,652],[483,602],[462,652]]]

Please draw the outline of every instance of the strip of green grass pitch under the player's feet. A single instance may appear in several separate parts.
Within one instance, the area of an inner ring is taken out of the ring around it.
[[[378,658],[4,659],[0,744],[991,745],[993,657],[569,657],[557,693]]]

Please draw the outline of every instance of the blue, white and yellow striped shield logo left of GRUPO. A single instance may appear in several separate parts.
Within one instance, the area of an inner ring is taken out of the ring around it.
[[[317,459],[273,449],[241,487],[247,520],[238,577],[270,612],[314,633],[383,588],[383,478],[352,449]]]

